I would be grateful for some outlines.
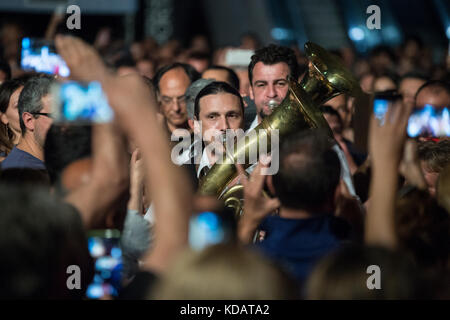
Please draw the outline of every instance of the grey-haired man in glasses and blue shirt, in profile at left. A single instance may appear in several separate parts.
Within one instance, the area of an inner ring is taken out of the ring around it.
[[[2,170],[46,170],[44,143],[53,122],[50,114],[50,86],[53,81],[51,76],[37,76],[25,83],[18,102],[22,139],[1,163]]]

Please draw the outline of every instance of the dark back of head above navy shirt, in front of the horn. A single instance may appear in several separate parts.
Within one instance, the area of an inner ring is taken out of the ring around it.
[[[332,201],[341,165],[332,143],[320,129],[293,134],[281,144],[280,167],[273,176],[281,205],[316,210]]]

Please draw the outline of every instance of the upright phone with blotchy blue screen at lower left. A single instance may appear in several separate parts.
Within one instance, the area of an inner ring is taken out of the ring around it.
[[[88,233],[88,247],[95,263],[93,281],[86,290],[89,299],[117,297],[122,281],[120,231],[93,230]]]

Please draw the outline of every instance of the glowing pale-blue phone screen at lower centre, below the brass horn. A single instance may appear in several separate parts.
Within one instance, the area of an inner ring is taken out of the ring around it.
[[[231,241],[234,235],[233,215],[211,211],[194,215],[189,222],[189,245],[194,250]]]

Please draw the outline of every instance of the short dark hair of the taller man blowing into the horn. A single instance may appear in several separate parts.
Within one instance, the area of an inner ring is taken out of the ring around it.
[[[253,81],[253,68],[258,62],[262,62],[266,65],[273,65],[279,62],[284,62],[289,66],[290,77],[297,81],[300,72],[297,62],[297,57],[294,50],[271,44],[267,47],[256,50],[255,54],[252,56],[252,60],[248,66],[248,79],[250,80],[250,85]]]

